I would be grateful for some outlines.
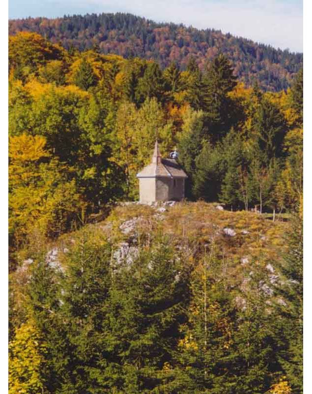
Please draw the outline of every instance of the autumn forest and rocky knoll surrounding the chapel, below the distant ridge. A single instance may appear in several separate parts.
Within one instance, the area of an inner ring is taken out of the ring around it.
[[[303,69],[234,67],[9,36],[10,394],[303,393]],[[156,138],[188,174],[160,211]]]

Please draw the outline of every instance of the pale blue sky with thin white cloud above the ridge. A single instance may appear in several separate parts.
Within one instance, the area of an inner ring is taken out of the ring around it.
[[[9,0],[9,18],[129,12],[303,52],[302,0]]]

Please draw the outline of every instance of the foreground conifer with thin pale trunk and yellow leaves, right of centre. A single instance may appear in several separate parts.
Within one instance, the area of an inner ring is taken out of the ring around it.
[[[204,245],[192,273],[188,321],[175,353],[170,393],[234,393],[235,350],[232,347],[236,308],[222,275],[215,243]]]

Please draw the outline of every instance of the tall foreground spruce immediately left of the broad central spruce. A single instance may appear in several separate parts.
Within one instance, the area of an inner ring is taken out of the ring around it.
[[[98,393],[107,385],[103,368],[109,363],[105,341],[111,286],[111,249],[99,235],[82,230],[75,246],[64,256],[60,281],[60,317],[67,346],[60,349],[67,361],[60,393]],[[110,367],[108,365],[107,373]]]

